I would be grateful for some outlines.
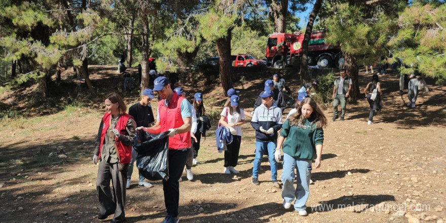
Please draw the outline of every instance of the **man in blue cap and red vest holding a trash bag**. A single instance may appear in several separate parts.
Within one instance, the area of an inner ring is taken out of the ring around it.
[[[138,127],[152,134],[169,131],[169,179],[163,180],[164,203],[167,216],[162,223],[178,222],[179,183],[191,147],[191,104],[174,93],[166,77],[154,81],[154,89],[162,98],[158,102],[158,117],[154,126]]]

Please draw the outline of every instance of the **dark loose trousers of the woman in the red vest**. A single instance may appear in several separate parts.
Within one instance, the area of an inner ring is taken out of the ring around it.
[[[110,180],[113,184],[113,195],[110,190]],[[114,220],[124,220],[124,205],[126,199],[127,170],[120,172],[118,164],[99,162],[96,190],[99,199],[99,213],[115,213]]]

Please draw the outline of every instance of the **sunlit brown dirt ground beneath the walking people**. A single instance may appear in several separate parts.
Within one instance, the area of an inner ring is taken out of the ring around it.
[[[116,67],[89,69],[94,73],[95,86],[120,91],[112,85]],[[62,76],[67,86],[71,78],[69,72]],[[263,88],[263,81],[256,79],[248,79],[243,89],[236,86],[242,89],[241,105],[247,112],[251,112],[255,95]],[[362,87],[370,79],[360,73]],[[180,182],[180,222],[446,221],[446,87],[428,80],[431,91],[419,96],[417,107],[408,108],[404,106],[407,94],[397,93],[399,75],[389,71],[380,79],[384,108],[375,117],[375,124],[367,125],[368,104],[364,99],[347,105],[344,122],[332,122],[332,108],[325,109],[329,125],[324,130],[321,168],[313,169],[311,176],[314,183],[310,185],[308,216],[283,208],[281,190],[271,187],[266,157],[259,174],[260,185],[251,184],[254,131],[247,118],[237,175],[223,173],[223,155],[215,148],[215,123],[202,139],[197,158],[200,163],[193,167],[194,180],[187,180],[184,172]],[[289,83],[296,92],[298,83]],[[29,93],[31,88],[20,91]],[[189,96],[197,90],[192,86],[185,89]],[[225,98],[219,89],[216,84],[201,89],[209,114],[221,111]],[[59,100],[67,100],[67,95],[61,94]],[[0,99],[11,97],[5,93]],[[125,94],[128,105],[138,98],[135,92]],[[91,157],[102,104],[97,100],[68,103],[45,115],[30,110],[29,118],[3,121],[1,222],[99,222],[97,165]],[[279,164],[278,179],[281,167]],[[138,187],[137,180],[135,170],[127,191],[127,222],[161,222],[166,214],[162,182],[151,182],[154,187],[146,189]]]

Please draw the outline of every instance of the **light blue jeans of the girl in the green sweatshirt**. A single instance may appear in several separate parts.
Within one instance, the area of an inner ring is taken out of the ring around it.
[[[294,188],[294,168],[298,169],[297,188]],[[285,202],[292,202],[294,209],[305,210],[308,196],[310,195],[311,160],[295,159],[288,154],[283,154],[282,171],[282,198]]]

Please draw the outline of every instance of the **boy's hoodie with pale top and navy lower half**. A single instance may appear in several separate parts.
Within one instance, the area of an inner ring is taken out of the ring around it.
[[[265,104],[261,104],[254,109],[251,126],[255,129],[255,141],[277,141],[277,131],[282,128],[282,110],[275,104],[270,108],[267,108]],[[263,127],[265,131],[273,128],[274,132],[272,134],[263,133],[260,131],[260,127]]]

